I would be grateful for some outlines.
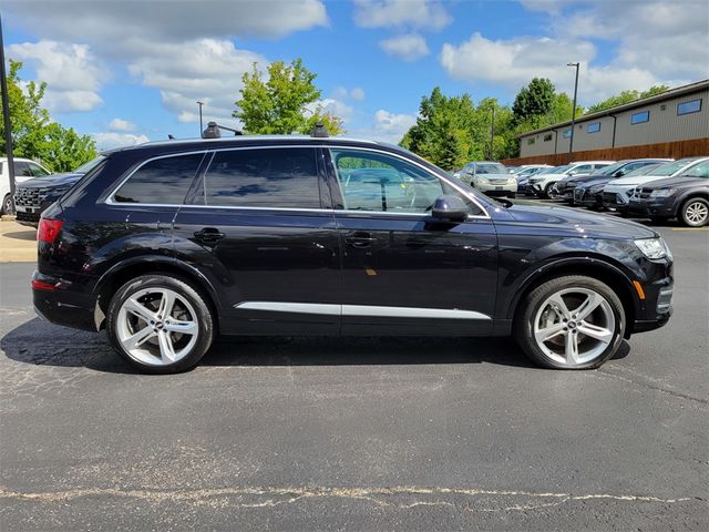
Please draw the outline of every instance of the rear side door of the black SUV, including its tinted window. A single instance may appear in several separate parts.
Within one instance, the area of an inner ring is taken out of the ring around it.
[[[319,153],[216,151],[179,209],[176,256],[215,287],[223,332],[339,332],[339,239]]]

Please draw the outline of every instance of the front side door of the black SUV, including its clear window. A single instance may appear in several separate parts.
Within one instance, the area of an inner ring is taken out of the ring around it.
[[[402,155],[353,147],[328,152],[342,246],[342,332],[489,332],[497,238],[480,204],[452,180]],[[442,194],[461,196],[470,219],[436,223],[431,208]]]

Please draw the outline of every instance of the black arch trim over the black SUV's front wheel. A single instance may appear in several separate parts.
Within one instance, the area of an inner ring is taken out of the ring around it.
[[[583,275],[600,280],[616,293],[626,315],[624,337],[629,338],[633,332],[635,316],[639,310],[639,298],[633,287],[633,282],[617,266],[596,258],[565,258],[533,272],[515,290],[515,296],[507,311],[507,318],[513,320],[517,318],[522,303],[537,286],[549,279],[567,275]]]

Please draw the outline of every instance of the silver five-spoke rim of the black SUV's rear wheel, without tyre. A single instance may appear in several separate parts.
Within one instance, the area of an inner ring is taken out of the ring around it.
[[[145,288],[123,301],[115,329],[131,358],[150,366],[167,366],[189,355],[199,325],[186,298],[169,288]]]

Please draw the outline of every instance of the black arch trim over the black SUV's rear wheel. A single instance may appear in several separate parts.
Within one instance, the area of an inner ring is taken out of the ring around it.
[[[218,324],[218,293],[214,285],[199,270],[181,260],[163,256],[134,257],[122,260],[106,270],[96,283],[93,294],[96,297],[94,320],[96,330],[105,325],[105,314],[111,298],[125,283],[142,275],[163,274],[188,283],[202,294]]]

